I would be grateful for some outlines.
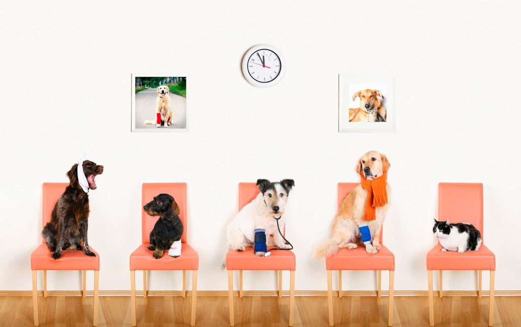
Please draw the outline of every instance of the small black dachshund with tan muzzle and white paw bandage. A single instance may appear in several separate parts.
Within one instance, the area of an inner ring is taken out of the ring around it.
[[[163,257],[164,250],[169,250],[173,242],[179,241],[183,234],[183,223],[179,219],[179,205],[170,194],[159,194],[154,200],[143,206],[151,216],[159,216],[150,232],[148,250],[154,251],[154,258]],[[178,256],[175,256],[177,258]]]

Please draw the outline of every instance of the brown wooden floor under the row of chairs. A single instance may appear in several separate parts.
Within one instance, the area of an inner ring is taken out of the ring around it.
[[[191,297],[137,298],[138,326],[189,326]],[[333,298],[335,326],[387,326],[387,297]],[[428,326],[427,297],[395,296],[394,326]],[[289,297],[235,297],[235,326],[287,326]],[[488,297],[435,297],[437,326],[487,326]],[[92,326],[92,296],[39,297],[40,326]],[[296,296],[294,326],[328,326],[327,297]],[[198,296],[197,326],[228,326],[228,297]],[[32,326],[32,298],[0,297],[0,326]],[[130,326],[130,296],[100,296],[98,326]],[[495,326],[521,326],[521,297],[495,297]]]

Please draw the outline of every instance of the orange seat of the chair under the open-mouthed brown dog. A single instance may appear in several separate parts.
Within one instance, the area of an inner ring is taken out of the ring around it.
[[[100,270],[100,255],[91,247],[95,257],[86,256],[83,250],[63,250],[55,260],[45,243],[31,253],[31,270]]]

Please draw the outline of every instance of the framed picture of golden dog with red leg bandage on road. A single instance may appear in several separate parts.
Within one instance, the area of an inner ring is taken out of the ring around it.
[[[132,74],[132,132],[188,132],[187,76]]]

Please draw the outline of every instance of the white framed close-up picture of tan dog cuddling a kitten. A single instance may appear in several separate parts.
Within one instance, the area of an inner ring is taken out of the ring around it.
[[[387,74],[340,74],[338,131],[394,132],[394,77]]]

